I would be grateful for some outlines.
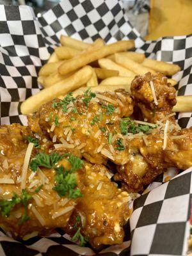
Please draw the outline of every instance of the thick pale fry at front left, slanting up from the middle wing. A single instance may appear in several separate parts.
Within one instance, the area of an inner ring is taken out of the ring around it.
[[[35,95],[29,97],[20,106],[20,111],[23,115],[28,115],[29,113],[34,113],[37,111],[42,104],[52,100],[60,95],[65,95],[68,92],[76,90],[87,81],[92,76],[92,68],[83,67],[81,70],[77,71],[70,77],[67,77],[56,83],[49,88],[45,88]]]

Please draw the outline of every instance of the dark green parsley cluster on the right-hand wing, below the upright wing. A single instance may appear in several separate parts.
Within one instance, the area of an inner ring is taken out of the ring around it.
[[[120,122],[120,131],[123,135],[127,135],[127,132],[131,132],[132,134],[136,134],[138,132],[146,133],[152,128],[153,127],[150,127],[149,125],[137,124],[130,119]]]

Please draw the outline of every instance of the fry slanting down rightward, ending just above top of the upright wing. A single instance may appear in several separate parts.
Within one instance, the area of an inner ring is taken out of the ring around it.
[[[136,61],[131,60],[129,57],[122,54],[115,54],[115,62],[138,75],[145,75],[148,72],[152,74],[156,73],[154,70],[152,70],[152,68],[144,67],[140,63],[137,63]]]

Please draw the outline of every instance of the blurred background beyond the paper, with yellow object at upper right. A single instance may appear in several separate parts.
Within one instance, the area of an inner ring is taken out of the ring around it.
[[[0,0],[0,4],[27,4],[38,15],[51,9],[60,1]],[[122,3],[132,26],[146,40],[192,33],[192,0],[122,0]]]

